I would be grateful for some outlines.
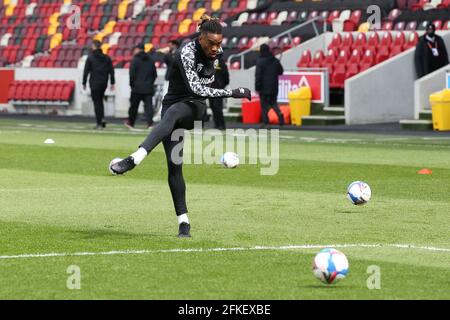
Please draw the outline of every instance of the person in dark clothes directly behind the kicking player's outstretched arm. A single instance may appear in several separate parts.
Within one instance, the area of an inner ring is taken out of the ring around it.
[[[230,73],[222,57],[217,59],[214,65],[216,69],[215,80],[212,88],[225,89],[230,84]],[[214,127],[219,130],[225,130],[225,118],[223,117],[223,98],[210,98],[209,106],[213,112]]]

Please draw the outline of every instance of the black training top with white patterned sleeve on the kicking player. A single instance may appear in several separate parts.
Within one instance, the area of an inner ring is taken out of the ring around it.
[[[177,102],[231,97],[231,90],[210,87],[215,80],[215,64],[218,63],[218,59],[205,56],[198,39],[183,45],[175,54],[169,75],[169,90],[164,97],[163,107]]]

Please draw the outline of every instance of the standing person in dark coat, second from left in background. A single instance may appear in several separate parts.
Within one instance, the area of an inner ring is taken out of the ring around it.
[[[144,113],[148,128],[153,126],[153,95],[155,94],[155,80],[158,77],[155,61],[145,52],[144,44],[134,48],[134,58],[130,66],[130,108],[125,126],[134,128],[139,104],[144,102]]]

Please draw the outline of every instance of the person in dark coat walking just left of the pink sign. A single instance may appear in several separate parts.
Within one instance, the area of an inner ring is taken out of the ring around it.
[[[272,54],[268,45],[260,47],[260,56],[256,62],[255,89],[259,94],[264,125],[269,124],[269,111],[274,109],[280,125],[284,125],[284,117],[278,107],[278,76],[284,70],[280,61]]]

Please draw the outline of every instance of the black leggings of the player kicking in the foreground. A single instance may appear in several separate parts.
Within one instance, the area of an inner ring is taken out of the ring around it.
[[[177,156],[183,157],[184,134],[180,135],[179,141],[172,141],[171,138],[173,131],[176,129],[193,129],[197,114],[196,106],[185,102],[179,102],[168,108],[163,108],[161,122],[153,128],[140,146],[150,153],[160,142],[163,143],[169,171],[169,187],[177,216],[188,213],[183,163],[172,159],[172,151],[176,146],[180,149]],[[179,144],[181,144],[181,148]]]

